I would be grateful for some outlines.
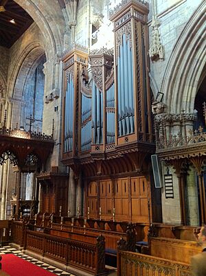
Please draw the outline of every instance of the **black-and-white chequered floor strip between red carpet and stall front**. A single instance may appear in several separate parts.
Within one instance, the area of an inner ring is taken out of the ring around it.
[[[45,262],[41,262],[39,260],[34,259],[33,257],[30,257],[28,255],[25,255],[23,253],[21,253],[21,251],[16,250],[14,248],[12,248],[11,246],[3,246],[0,247],[0,255],[1,254],[14,254],[18,257],[21,257],[22,259],[28,261],[28,262],[32,262],[32,264],[36,264],[36,266],[40,266],[41,268],[46,269],[47,271],[50,271],[52,273],[54,273],[55,275],[70,275],[70,276],[75,276],[71,273],[68,273],[66,271],[62,271],[59,268],[56,268],[54,266],[50,266],[50,264],[46,264]]]

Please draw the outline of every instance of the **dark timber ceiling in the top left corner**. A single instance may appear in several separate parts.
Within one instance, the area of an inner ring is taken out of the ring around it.
[[[0,0],[0,45],[10,48],[33,23],[32,17],[13,0]]]

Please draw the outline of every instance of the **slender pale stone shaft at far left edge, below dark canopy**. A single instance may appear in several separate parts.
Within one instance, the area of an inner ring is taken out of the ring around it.
[[[5,220],[5,198],[6,198],[6,190],[7,190],[7,183],[8,183],[8,167],[9,163],[3,164],[2,169],[2,182],[1,182],[1,220]]]

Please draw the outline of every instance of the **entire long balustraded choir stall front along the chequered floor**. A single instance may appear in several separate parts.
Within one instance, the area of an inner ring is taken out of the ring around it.
[[[24,250],[33,251],[41,257],[56,260],[66,266],[93,273],[106,275],[105,240],[84,233],[71,233],[68,238],[32,231],[30,225],[23,222],[12,222],[12,242],[19,244]],[[47,229],[41,229],[47,231]]]

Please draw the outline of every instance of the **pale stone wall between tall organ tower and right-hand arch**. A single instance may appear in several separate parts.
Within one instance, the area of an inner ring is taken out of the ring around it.
[[[157,1],[157,19],[160,22],[159,32],[161,35],[161,43],[164,47],[164,60],[150,63],[150,71],[157,82],[157,87],[161,89],[162,82],[165,78],[165,69],[170,60],[172,50],[176,45],[181,32],[183,31],[187,21],[201,4],[198,1]],[[150,27],[151,38],[151,27]],[[167,93],[167,91],[163,91]]]

